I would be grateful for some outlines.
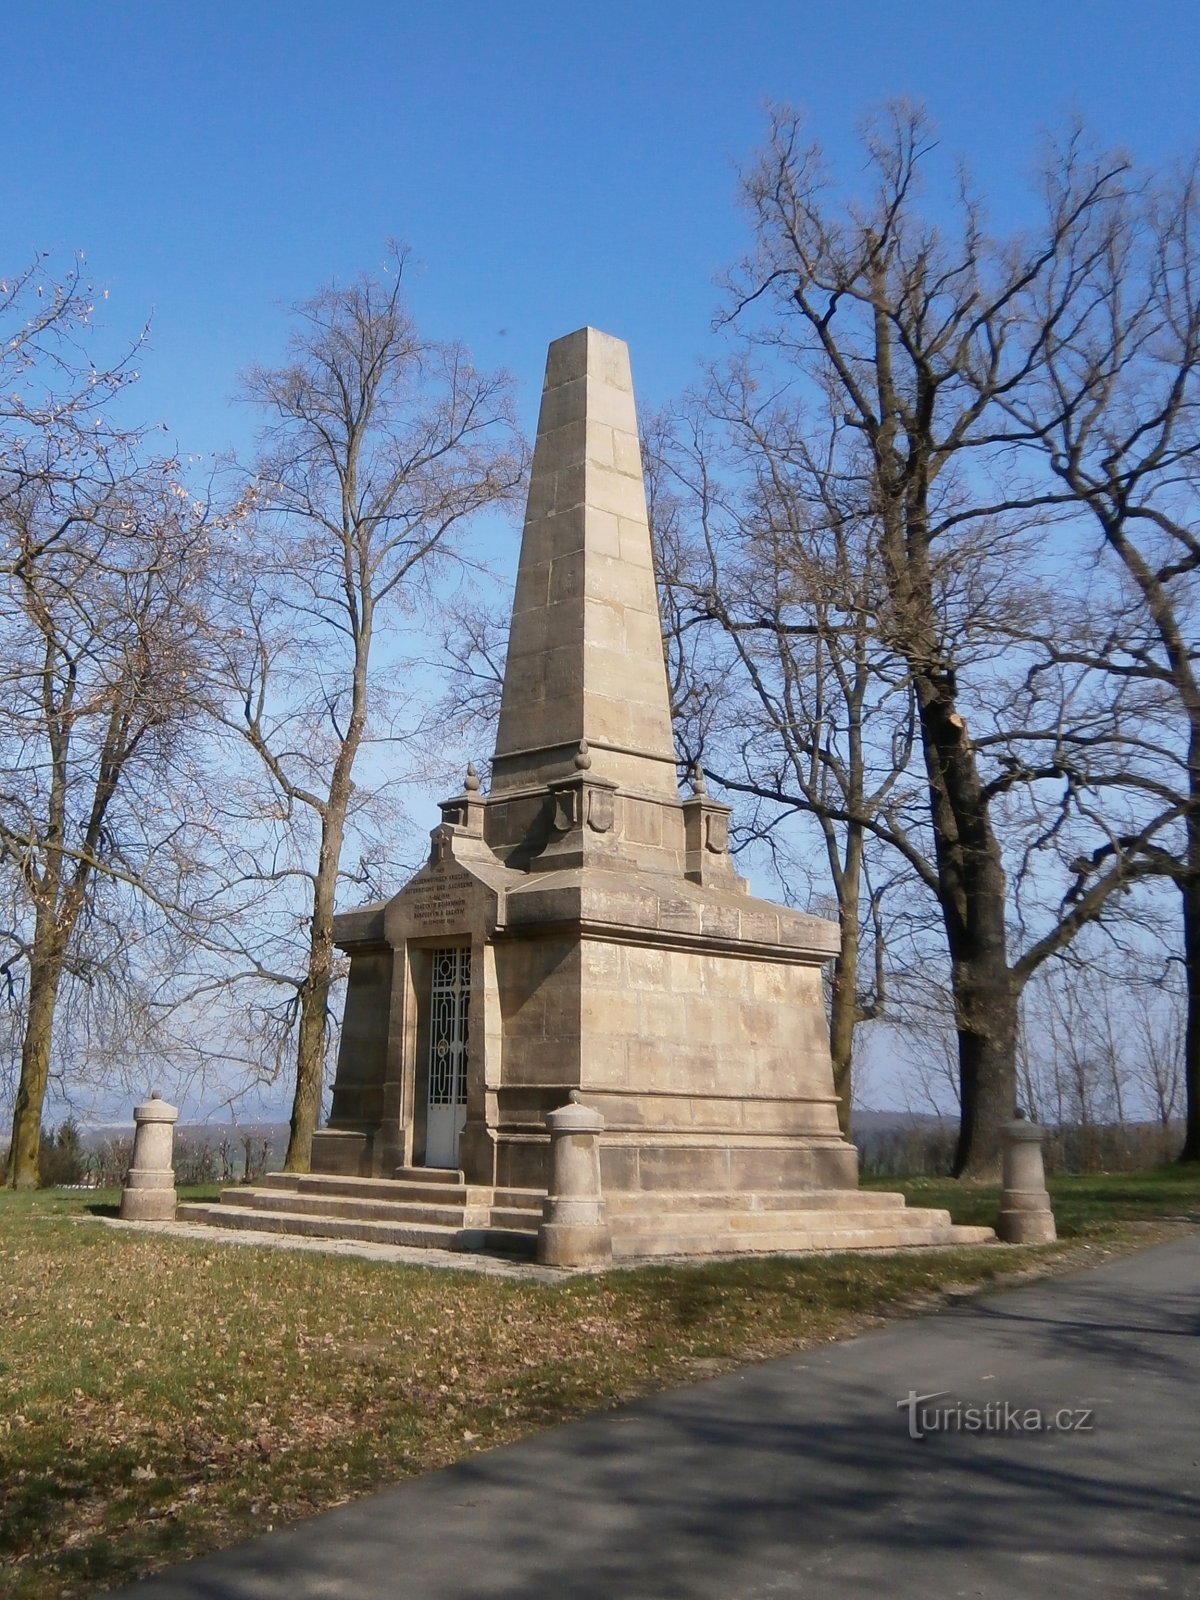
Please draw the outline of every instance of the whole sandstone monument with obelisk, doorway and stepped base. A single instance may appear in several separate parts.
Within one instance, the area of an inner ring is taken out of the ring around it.
[[[314,1176],[221,1210],[320,1232],[339,1194],[344,1224],[397,1238],[528,1240],[547,1117],[578,1101],[618,1259],[992,1237],[858,1190],[821,987],[837,928],[750,896],[730,808],[699,771],[688,789],[629,352],[582,328],[549,349],[488,792],[469,768],[427,864],[336,918],[350,976]]]

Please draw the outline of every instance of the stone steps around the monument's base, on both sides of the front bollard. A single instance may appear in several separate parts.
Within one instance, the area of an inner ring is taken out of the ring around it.
[[[219,1203],[187,1203],[181,1222],[350,1238],[424,1250],[533,1258],[541,1189],[488,1189],[462,1173],[405,1166],[395,1178],[270,1173],[259,1187],[224,1189]],[[907,1206],[874,1189],[722,1194],[610,1194],[614,1261],[656,1256],[902,1250],[982,1245],[990,1227],[962,1227],[949,1211]]]

